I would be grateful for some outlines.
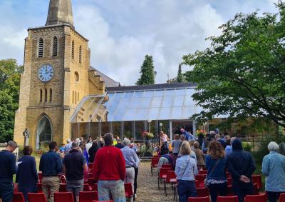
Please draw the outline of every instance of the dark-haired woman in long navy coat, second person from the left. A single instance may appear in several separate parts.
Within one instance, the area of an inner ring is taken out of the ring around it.
[[[18,189],[23,193],[25,201],[28,201],[28,193],[37,193],[38,173],[36,160],[31,156],[32,152],[31,146],[24,147],[24,156],[18,160],[20,164],[16,173],[16,183],[18,183]]]

